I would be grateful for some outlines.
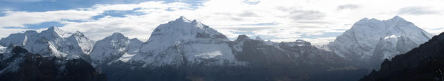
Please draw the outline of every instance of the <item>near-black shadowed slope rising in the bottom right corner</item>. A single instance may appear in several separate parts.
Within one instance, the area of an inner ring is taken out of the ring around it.
[[[444,33],[434,36],[418,48],[384,60],[379,71],[361,81],[431,81],[444,79]]]

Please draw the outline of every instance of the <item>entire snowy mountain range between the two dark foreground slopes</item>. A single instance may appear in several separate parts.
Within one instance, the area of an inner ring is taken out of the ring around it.
[[[5,46],[20,46],[42,57],[83,59],[113,81],[343,81],[359,80],[371,69],[379,69],[384,60],[407,53],[431,37],[398,16],[364,18],[327,48],[319,48],[302,39],[270,42],[239,35],[232,41],[197,20],[180,17],[157,26],[146,42],[121,33],[94,42],[80,32],[51,27],[2,38],[0,52],[7,51]]]

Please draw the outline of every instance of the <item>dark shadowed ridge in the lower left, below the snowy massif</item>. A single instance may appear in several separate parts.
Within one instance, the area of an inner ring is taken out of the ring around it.
[[[105,81],[104,74],[82,59],[63,60],[42,57],[14,46],[10,53],[0,54],[2,81]]]

